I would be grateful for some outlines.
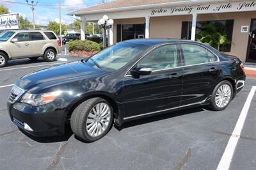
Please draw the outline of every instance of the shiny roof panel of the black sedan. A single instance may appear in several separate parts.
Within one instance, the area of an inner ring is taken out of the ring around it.
[[[180,40],[175,38],[170,38],[170,39],[169,38],[147,38],[147,39],[126,40],[125,42],[140,43],[144,45],[160,45],[163,43],[178,43],[178,42],[198,43],[191,40]]]

